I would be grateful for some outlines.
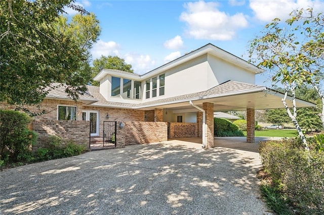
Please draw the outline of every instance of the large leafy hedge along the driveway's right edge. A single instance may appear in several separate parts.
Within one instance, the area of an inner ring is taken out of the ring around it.
[[[260,144],[260,156],[273,186],[299,209],[301,214],[321,214],[324,206],[324,153],[316,150],[313,138],[309,151],[299,138]]]

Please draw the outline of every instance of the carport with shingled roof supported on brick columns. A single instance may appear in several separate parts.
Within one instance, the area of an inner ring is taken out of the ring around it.
[[[207,91],[159,99],[142,103],[141,110],[154,109],[155,122],[170,122],[170,115],[190,115],[196,118],[198,137],[205,139],[206,148],[214,147],[214,112],[247,111],[246,142],[255,142],[255,110],[284,108],[281,99],[284,94],[265,86],[227,81]],[[287,96],[292,108],[292,96]],[[298,107],[315,106],[311,102],[296,98]],[[205,112],[205,114],[203,114]],[[205,115],[205,116],[204,116]],[[205,135],[204,135],[205,134]],[[205,137],[204,137],[205,136]]]

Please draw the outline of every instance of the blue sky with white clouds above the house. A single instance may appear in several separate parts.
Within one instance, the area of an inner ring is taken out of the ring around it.
[[[248,45],[273,18],[294,9],[324,11],[323,0],[76,1],[96,14],[102,29],[93,59],[118,56],[146,73],[212,43],[244,60]],[[67,11],[73,15],[73,11]],[[258,75],[256,84],[266,75]]]

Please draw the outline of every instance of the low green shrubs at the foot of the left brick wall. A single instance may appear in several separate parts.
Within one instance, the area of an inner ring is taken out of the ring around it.
[[[86,150],[84,145],[68,141],[64,144],[63,139],[57,136],[50,137],[49,148],[39,148],[36,152],[36,159],[44,161],[58,159],[82,154]]]

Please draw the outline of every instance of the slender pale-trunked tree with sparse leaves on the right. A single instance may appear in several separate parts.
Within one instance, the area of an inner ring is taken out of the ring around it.
[[[324,16],[314,14],[312,9],[297,10],[290,14],[285,23],[278,18],[267,24],[250,44],[251,62],[268,70],[274,84],[280,82],[285,89],[282,98],[288,115],[292,119],[305,149],[307,141],[297,121],[295,89],[302,84],[310,84],[324,101],[320,91],[323,77]],[[286,102],[288,93],[292,95],[292,111]],[[323,102],[324,103],[324,102]],[[324,127],[324,106],[321,120]]]

